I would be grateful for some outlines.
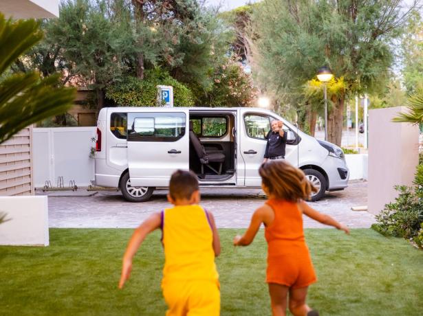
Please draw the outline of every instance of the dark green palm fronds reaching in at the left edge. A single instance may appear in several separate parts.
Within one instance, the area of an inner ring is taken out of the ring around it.
[[[74,101],[75,89],[59,87],[58,74],[10,74],[10,65],[42,38],[33,19],[12,21],[0,13],[0,144],[30,124],[65,113]]]

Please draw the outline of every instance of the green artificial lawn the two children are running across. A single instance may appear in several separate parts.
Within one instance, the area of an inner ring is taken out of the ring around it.
[[[220,229],[221,315],[270,315],[263,231],[232,247],[239,229]],[[50,247],[0,247],[1,315],[164,315],[160,234],[151,234],[118,290],[131,229],[50,229]],[[371,229],[347,236],[306,229],[318,282],[308,303],[321,315],[421,315],[423,252]]]

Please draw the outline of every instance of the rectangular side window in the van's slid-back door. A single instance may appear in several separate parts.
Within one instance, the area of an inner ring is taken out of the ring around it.
[[[128,113],[128,141],[175,142],[185,125],[185,113]]]

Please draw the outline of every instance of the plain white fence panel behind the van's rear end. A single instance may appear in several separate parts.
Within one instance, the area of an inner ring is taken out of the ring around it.
[[[65,186],[72,180],[78,186],[91,184],[94,159],[89,155],[95,136],[96,127],[34,128],[34,186],[42,188],[45,181],[56,186],[58,177]]]

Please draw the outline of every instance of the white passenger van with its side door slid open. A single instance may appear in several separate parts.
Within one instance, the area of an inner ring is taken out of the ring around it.
[[[272,120],[288,133],[285,159],[319,191],[347,187],[343,151],[265,109],[113,107],[98,115],[96,185],[120,188],[128,201],[147,201],[173,171],[193,170],[202,188],[260,188],[259,166]],[[191,126],[191,131],[190,131]]]

